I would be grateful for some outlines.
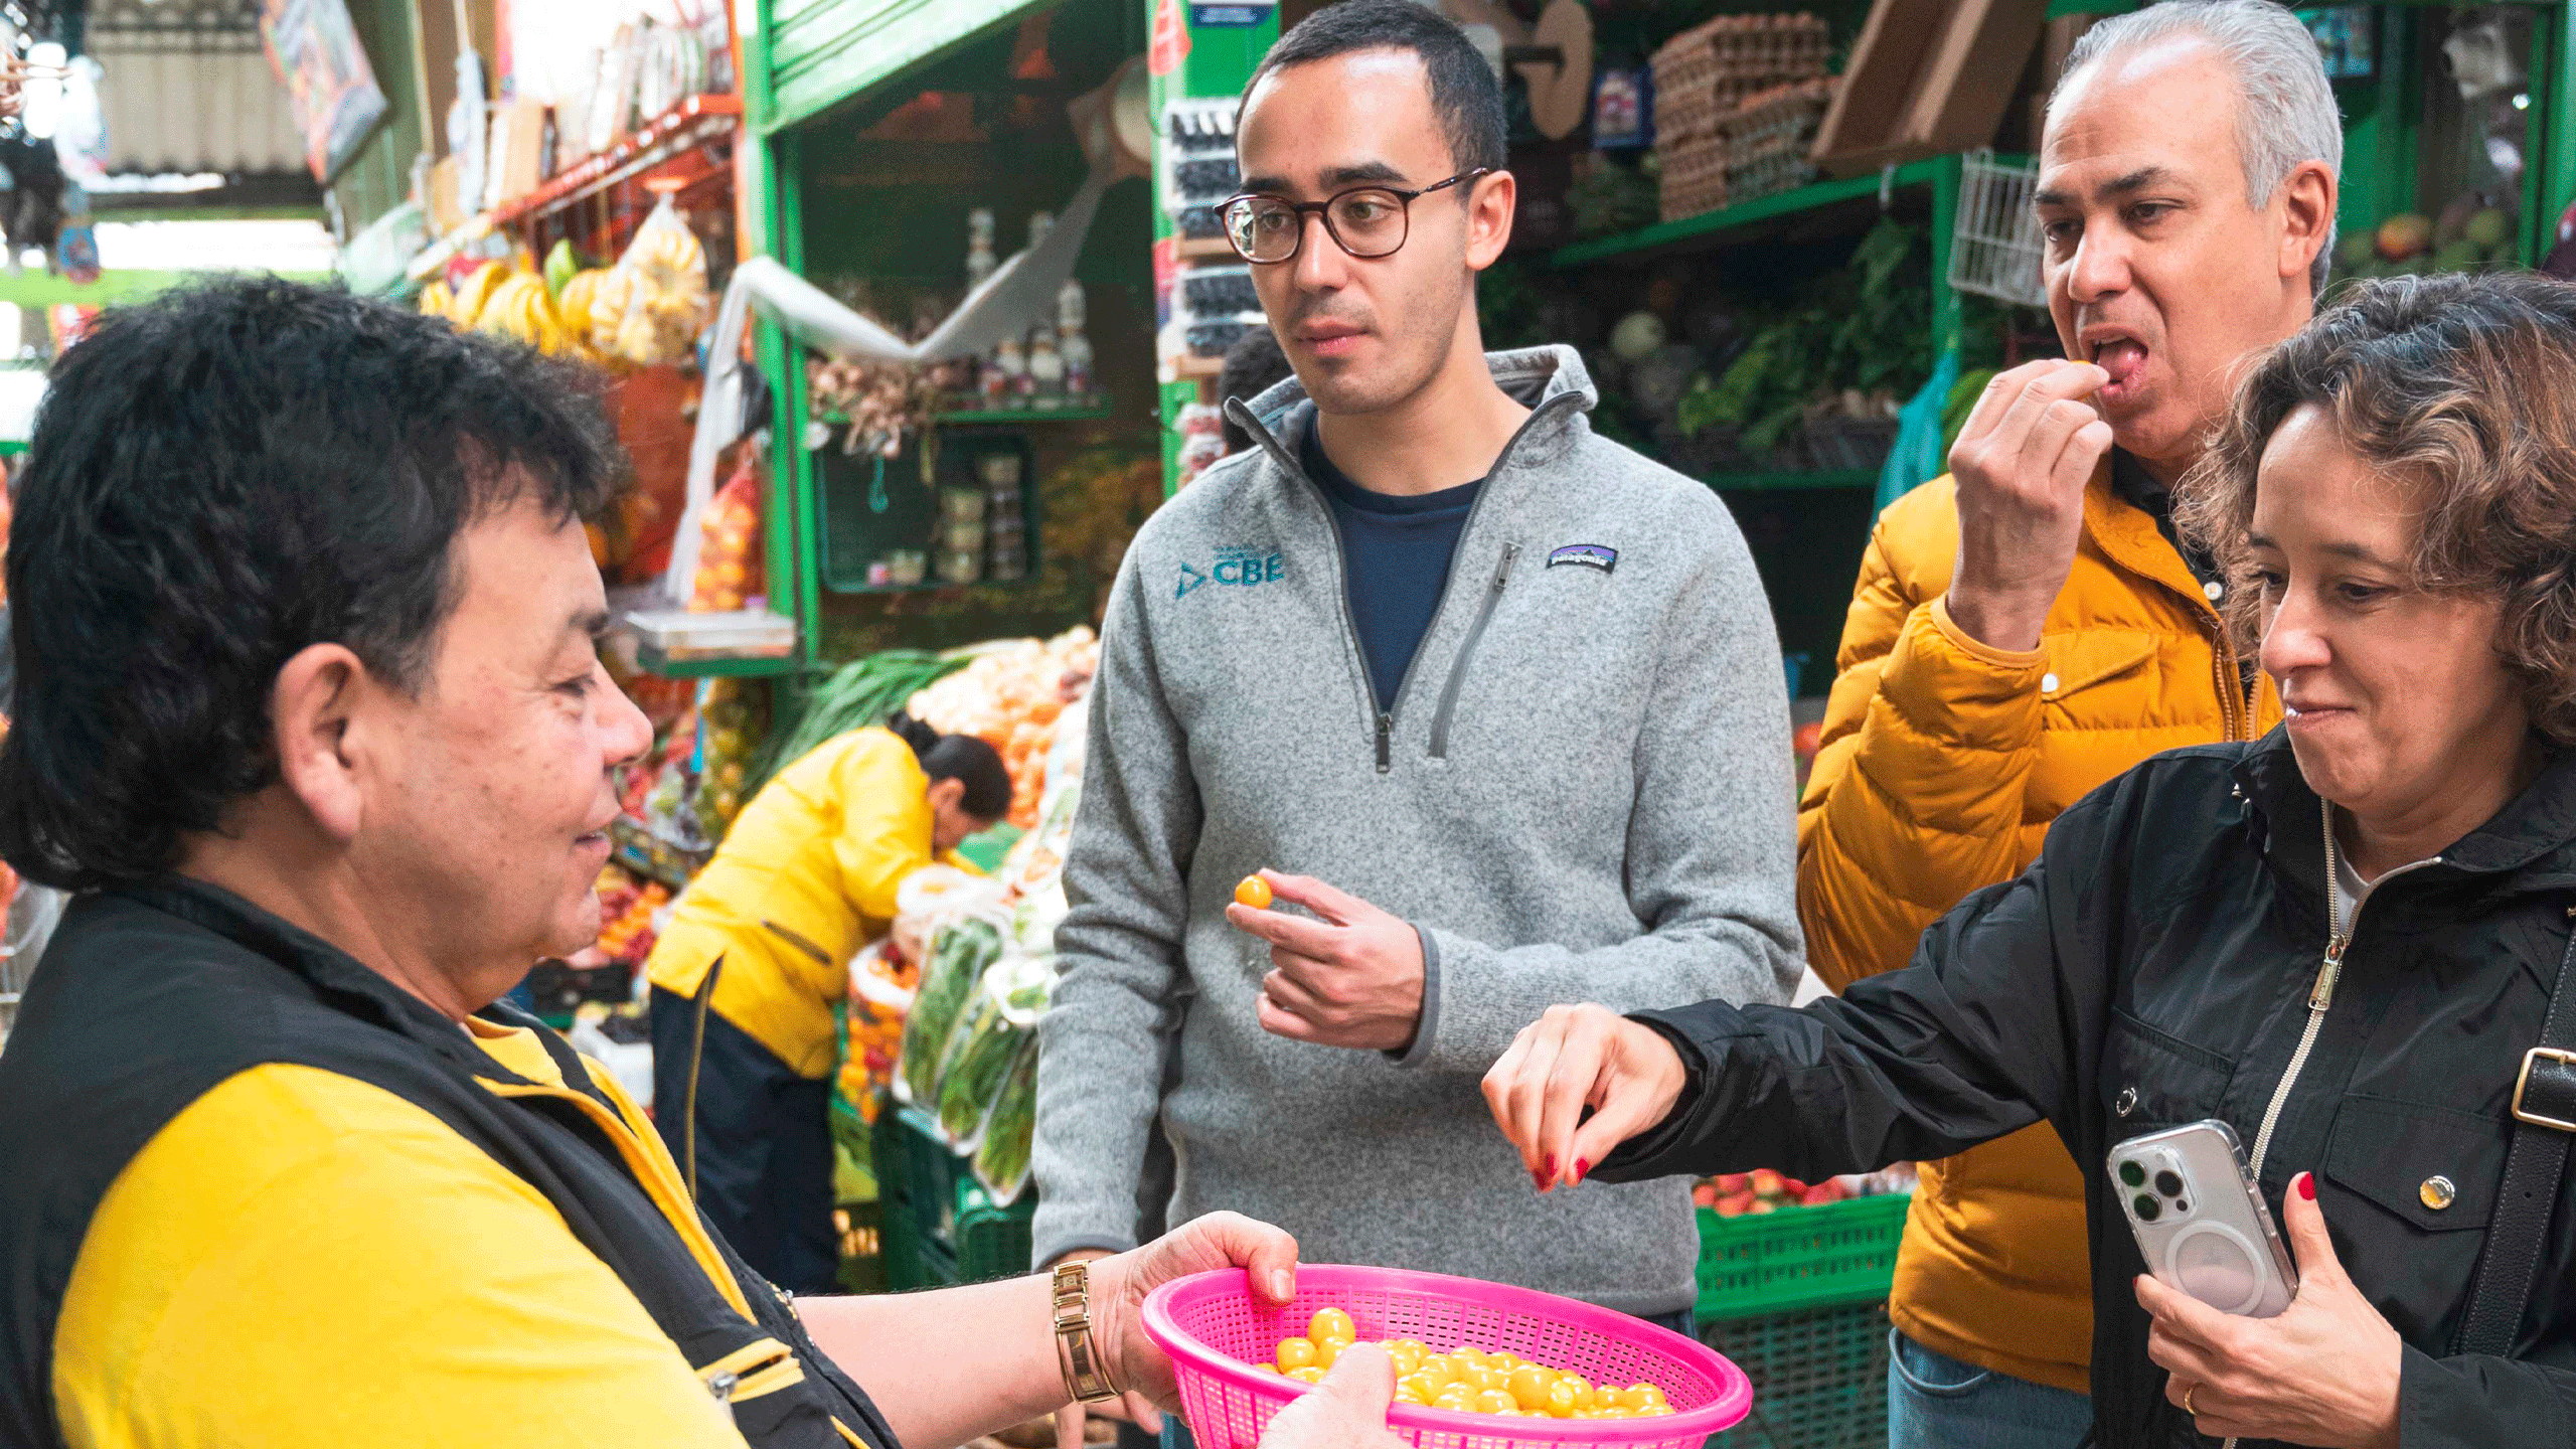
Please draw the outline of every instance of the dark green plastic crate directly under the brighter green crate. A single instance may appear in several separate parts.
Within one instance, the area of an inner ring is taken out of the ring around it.
[[[1883,1297],[1703,1323],[1700,1338],[1754,1382],[1754,1410],[1708,1449],[1886,1449]]]

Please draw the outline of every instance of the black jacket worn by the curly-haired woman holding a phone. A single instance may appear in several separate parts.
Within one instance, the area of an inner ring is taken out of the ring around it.
[[[2334,1248],[2406,1341],[2401,1441],[2576,1446],[2568,1186],[2509,1359],[2455,1354],[2576,905],[2576,753],[2481,830],[2372,890],[2262,1171],[2313,1168]],[[2045,1119],[2087,1178],[2105,1449],[2202,1444],[2146,1356],[2146,1271],[2105,1155],[2205,1116],[2254,1147],[2329,936],[2324,807],[2282,732],[2156,755],[2061,815],[2014,882],[1914,962],[1806,1011],[1643,1013],[1705,1080],[1600,1178],[1947,1158]],[[2447,1209],[2419,1189],[2458,1183]]]

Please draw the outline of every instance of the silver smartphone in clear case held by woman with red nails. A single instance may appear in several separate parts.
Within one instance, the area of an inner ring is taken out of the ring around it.
[[[2110,1150],[2107,1168],[2156,1281],[2244,1318],[2290,1307],[2298,1269],[2233,1127],[2210,1119],[2130,1137]]]

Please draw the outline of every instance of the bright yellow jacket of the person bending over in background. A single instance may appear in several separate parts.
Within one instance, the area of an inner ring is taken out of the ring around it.
[[[824,740],[742,807],[672,905],[644,975],[696,995],[724,957],[708,1011],[796,1075],[829,1075],[848,962],[886,933],[894,892],[930,864],[927,792],[930,776],[894,732]]]

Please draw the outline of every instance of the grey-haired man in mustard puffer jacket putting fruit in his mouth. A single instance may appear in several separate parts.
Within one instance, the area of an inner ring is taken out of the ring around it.
[[[1996,376],[1950,477],[1880,516],[1798,812],[1837,987],[1906,964],[2110,776],[2280,717],[2169,495],[2236,364],[2313,312],[2342,152],[2316,44],[2267,0],[2166,0],[2069,57],[2035,191],[2066,358]],[[2084,1436],[2084,1194],[2056,1137],[1927,1165],[1888,1315],[1891,1446]]]

